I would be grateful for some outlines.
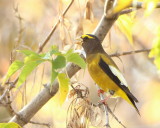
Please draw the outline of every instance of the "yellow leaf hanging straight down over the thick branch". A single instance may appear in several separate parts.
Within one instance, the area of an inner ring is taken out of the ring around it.
[[[58,74],[60,104],[66,100],[69,91],[69,78],[65,73]]]

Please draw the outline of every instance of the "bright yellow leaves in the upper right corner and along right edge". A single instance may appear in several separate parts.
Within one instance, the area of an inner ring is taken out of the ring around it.
[[[152,11],[156,8],[156,5],[160,0],[137,0],[140,2],[144,2],[144,8],[145,8],[145,16],[149,16]],[[135,2],[135,0],[128,0],[127,2],[125,0],[118,0],[113,12],[117,13],[132,4],[132,2]],[[134,14],[133,14],[134,15]],[[133,28],[133,18],[129,15],[122,15],[118,18],[116,21],[116,24],[120,31],[126,36],[126,38],[129,40],[131,44],[133,44],[133,37],[132,37],[132,28]],[[153,41],[153,48],[149,54],[149,57],[154,57],[154,63],[157,66],[158,69],[160,69],[160,29],[157,32],[157,37]]]

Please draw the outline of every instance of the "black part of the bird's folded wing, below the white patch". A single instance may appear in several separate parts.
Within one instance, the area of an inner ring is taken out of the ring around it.
[[[119,80],[119,78],[116,75],[113,74],[109,65],[106,64],[106,62],[102,58],[100,58],[99,66],[110,77],[110,79],[114,81],[114,83],[116,83],[116,85],[118,85],[127,94],[128,98],[135,105],[134,101],[138,102],[137,98],[133,96],[133,94],[129,91],[127,86],[122,85],[122,82]]]

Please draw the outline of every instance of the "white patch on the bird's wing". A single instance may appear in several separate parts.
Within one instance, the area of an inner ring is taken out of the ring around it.
[[[126,87],[128,87],[127,81],[125,80],[125,78],[123,77],[123,75],[121,74],[121,72],[119,70],[117,70],[115,67],[109,65],[110,70],[112,71],[112,73],[118,77],[118,79],[121,81],[121,85],[125,85]]]

